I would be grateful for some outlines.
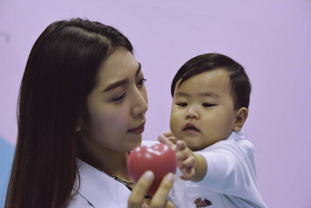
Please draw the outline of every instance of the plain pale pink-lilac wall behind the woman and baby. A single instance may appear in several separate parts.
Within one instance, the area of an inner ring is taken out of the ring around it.
[[[145,139],[169,130],[170,83],[186,60],[217,52],[244,65],[254,87],[244,131],[263,199],[311,207],[311,1],[0,0],[0,137],[12,146],[28,53],[48,24],[70,17],[111,24],[134,44],[148,79]]]

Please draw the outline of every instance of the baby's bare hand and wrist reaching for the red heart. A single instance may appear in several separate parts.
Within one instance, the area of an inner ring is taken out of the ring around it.
[[[184,141],[177,141],[169,132],[159,135],[158,140],[175,150],[181,179],[195,182],[205,177],[207,163],[202,155],[191,151]]]

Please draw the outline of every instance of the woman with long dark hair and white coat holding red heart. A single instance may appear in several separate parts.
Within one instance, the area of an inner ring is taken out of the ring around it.
[[[126,207],[129,197],[128,207],[141,207],[153,175],[131,195],[126,162],[141,144],[144,81],[132,44],[115,28],[79,18],[48,26],[21,81],[5,207]],[[150,207],[172,206],[172,178]]]

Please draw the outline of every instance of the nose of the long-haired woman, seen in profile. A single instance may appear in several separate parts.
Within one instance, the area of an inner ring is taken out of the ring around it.
[[[133,98],[132,114],[138,116],[139,114],[145,114],[148,110],[148,97],[145,90],[136,90]]]

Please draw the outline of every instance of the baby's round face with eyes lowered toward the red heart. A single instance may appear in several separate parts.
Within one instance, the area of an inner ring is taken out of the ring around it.
[[[199,73],[175,87],[170,130],[176,139],[191,150],[226,139],[236,123],[230,90],[229,73],[222,69]]]

